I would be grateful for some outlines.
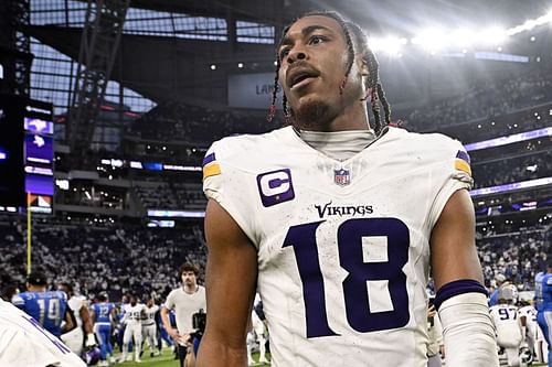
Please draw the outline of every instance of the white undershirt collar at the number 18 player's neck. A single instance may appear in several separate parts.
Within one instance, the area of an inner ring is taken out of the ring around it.
[[[350,159],[376,138],[372,129],[337,132],[301,130],[298,134],[307,144],[338,161]]]

